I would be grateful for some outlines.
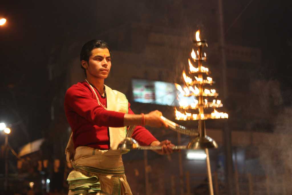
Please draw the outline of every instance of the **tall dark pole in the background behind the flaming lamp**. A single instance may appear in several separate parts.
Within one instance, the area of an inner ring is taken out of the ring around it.
[[[218,10],[219,10],[219,40],[220,40],[220,56],[222,59],[222,89],[223,89],[223,98],[226,101],[228,97],[228,88],[227,88],[227,74],[226,74],[226,56],[225,56],[225,39],[224,39],[224,23],[223,23],[223,4],[222,0],[218,0]],[[228,184],[228,194],[233,194],[233,168],[232,168],[232,150],[231,150],[231,131],[228,127],[227,121],[224,122],[223,127],[223,144],[224,144],[224,153],[226,157],[225,161],[225,178],[227,178]]]

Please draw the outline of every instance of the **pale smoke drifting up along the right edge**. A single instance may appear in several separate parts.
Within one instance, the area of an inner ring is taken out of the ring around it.
[[[254,95],[252,111],[257,110],[257,116],[274,126],[273,132],[268,133],[270,136],[258,145],[259,160],[266,175],[263,185],[270,194],[291,194],[292,107],[283,105],[278,81],[257,80],[253,82],[251,92]]]

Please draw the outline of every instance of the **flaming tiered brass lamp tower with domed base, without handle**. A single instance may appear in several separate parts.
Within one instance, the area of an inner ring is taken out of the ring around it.
[[[204,88],[204,85],[212,85],[215,83],[211,77],[208,77],[210,71],[203,66],[203,61],[207,61],[206,53],[202,49],[204,46],[208,46],[206,40],[201,40],[200,31],[196,32],[196,40],[194,40],[194,46],[197,47],[197,54],[192,50],[191,58],[193,63],[197,63],[195,68],[189,58],[190,74],[193,78],[188,77],[183,71],[183,78],[185,86],[181,87],[179,84],[175,84],[176,88],[184,96],[195,96],[193,103],[188,104],[186,101],[179,102],[179,110],[175,109],[176,120],[199,120],[199,137],[196,137],[190,141],[187,145],[187,149],[205,149],[205,148],[217,148],[216,142],[206,135],[205,120],[206,119],[218,119],[228,118],[227,113],[217,112],[215,108],[222,107],[220,100],[216,100],[218,93],[215,89]],[[196,86],[198,85],[198,87]],[[208,101],[207,98],[214,97],[213,101]],[[204,113],[204,109],[214,108],[211,114]],[[196,113],[197,111],[197,113]]]

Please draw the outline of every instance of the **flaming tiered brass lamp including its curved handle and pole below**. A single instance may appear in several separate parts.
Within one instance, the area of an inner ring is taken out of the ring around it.
[[[199,38],[200,31],[196,32],[196,40],[194,40],[194,46],[197,47],[197,54],[192,50],[191,58],[189,59],[190,75],[192,78],[187,76],[185,71],[183,71],[183,78],[185,84],[181,87],[179,84],[175,84],[178,91],[183,94],[183,96],[194,96],[197,97],[194,99],[194,102],[188,103],[187,101],[179,101],[179,108],[175,109],[175,119],[176,120],[199,120],[199,129],[188,129],[181,125],[168,120],[167,118],[161,116],[161,118],[166,121],[168,127],[171,130],[176,132],[195,136],[187,146],[174,146],[173,149],[205,149],[206,152],[206,165],[208,171],[208,181],[209,181],[209,191],[213,195],[213,183],[212,175],[210,168],[210,159],[209,159],[209,148],[218,148],[217,143],[210,137],[206,135],[205,120],[207,119],[218,119],[218,118],[228,118],[227,113],[217,112],[215,108],[222,107],[222,103],[218,99],[214,99],[218,96],[215,89],[204,88],[204,85],[212,85],[215,83],[211,77],[208,75],[211,73],[208,68],[203,66],[203,61],[207,61],[206,53],[202,49],[207,45],[206,40],[201,40]],[[193,63],[197,63],[197,68],[193,66]],[[208,101],[208,98],[213,97],[212,101]],[[204,113],[204,109],[213,108],[212,113]],[[161,149],[161,146],[139,146],[139,144],[132,138],[133,130],[135,126],[129,127],[129,130],[126,135],[126,139],[122,141],[118,149],[126,151],[131,149],[140,149],[140,150],[157,150]]]

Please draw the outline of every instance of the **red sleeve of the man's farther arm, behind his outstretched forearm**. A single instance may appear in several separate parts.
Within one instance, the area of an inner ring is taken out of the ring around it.
[[[134,114],[130,108],[130,103],[128,114]],[[142,126],[137,126],[135,128],[132,137],[138,141],[141,146],[149,146],[153,141],[157,141],[157,139],[145,127]]]

